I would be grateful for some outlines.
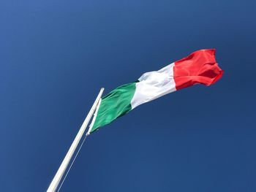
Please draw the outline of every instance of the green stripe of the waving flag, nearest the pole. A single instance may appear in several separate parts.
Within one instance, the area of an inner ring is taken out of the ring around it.
[[[102,102],[99,106],[99,111],[91,128],[91,132],[96,131],[98,128],[111,123],[116,118],[127,114],[132,110],[131,101],[135,93],[136,82],[121,85],[114,89],[108,95],[102,98]]]

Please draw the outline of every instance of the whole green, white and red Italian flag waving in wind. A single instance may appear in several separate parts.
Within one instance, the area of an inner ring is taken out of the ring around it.
[[[195,84],[212,85],[222,77],[215,50],[197,50],[155,72],[144,73],[136,82],[114,89],[99,100],[91,134],[140,104]]]

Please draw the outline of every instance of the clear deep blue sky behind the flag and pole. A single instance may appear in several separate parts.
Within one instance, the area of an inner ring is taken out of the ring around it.
[[[195,50],[225,74],[86,139],[61,191],[256,191],[256,1],[0,2],[0,191],[46,191],[105,94]]]

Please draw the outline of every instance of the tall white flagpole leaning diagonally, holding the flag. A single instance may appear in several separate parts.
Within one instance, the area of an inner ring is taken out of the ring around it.
[[[84,131],[86,131],[86,126],[88,125],[89,121],[91,120],[91,116],[94,115],[94,111],[97,108],[97,104],[99,103],[99,99],[102,96],[102,93],[104,91],[104,88],[101,88],[99,91],[99,95],[97,96],[97,99],[94,101],[93,106],[91,107],[91,110],[89,111],[86,119],[83,121],[83,125],[80,127],[80,130],[78,131],[77,136],[75,137],[74,141],[72,142],[72,145],[69,148],[69,151],[67,152],[67,155],[65,156],[64,160],[61,163],[61,166],[58,169],[58,172],[54,176],[52,182],[50,183],[50,186],[47,190],[47,192],[54,192],[56,191],[56,188],[58,187],[61,177],[63,176],[65,170],[67,169],[67,166],[69,164],[69,161],[72,158],[72,155],[75,153],[76,147],[78,147],[78,143],[80,142],[81,137],[83,136]]]

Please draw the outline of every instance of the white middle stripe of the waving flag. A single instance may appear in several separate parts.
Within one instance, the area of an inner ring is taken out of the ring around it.
[[[136,83],[135,94],[132,98],[132,109],[140,104],[152,101],[167,93],[176,91],[173,79],[173,64],[165,66],[157,72],[143,74]]]

